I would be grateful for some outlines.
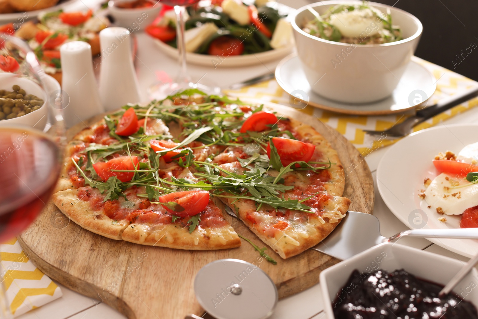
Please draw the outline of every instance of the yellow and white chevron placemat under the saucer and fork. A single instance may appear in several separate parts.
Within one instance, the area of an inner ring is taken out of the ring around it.
[[[442,66],[437,66],[433,63],[427,62],[416,56],[412,57],[413,61],[426,67],[436,78],[436,90],[430,98],[428,105],[436,103],[438,100],[454,95],[459,92],[467,91],[478,87],[478,82],[473,81],[467,77],[459,75]],[[366,156],[373,150],[390,145],[398,139],[382,139],[366,135],[363,130],[386,130],[395,123],[404,121],[410,114],[393,114],[380,116],[359,116],[347,115],[329,112],[326,110],[317,109],[311,105],[300,104],[301,102],[292,98],[277,84],[277,81],[265,81],[250,87],[241,88],[240,90],[226,90],[228,95],[237,96],[239,98],[254,98],[279,103],[286,106],[292,106],[306,114],[313,115],[320,121],[327,123],[329,126],[336,129],[343,134],[351,143],[357,147],[362,155]],[[440,121],[446,120],[462,113],[478,105],[478,98],[467,101],[447,110],[440,115],[425,121],[414,127],[413,131],[423,130],[431,127]]]

